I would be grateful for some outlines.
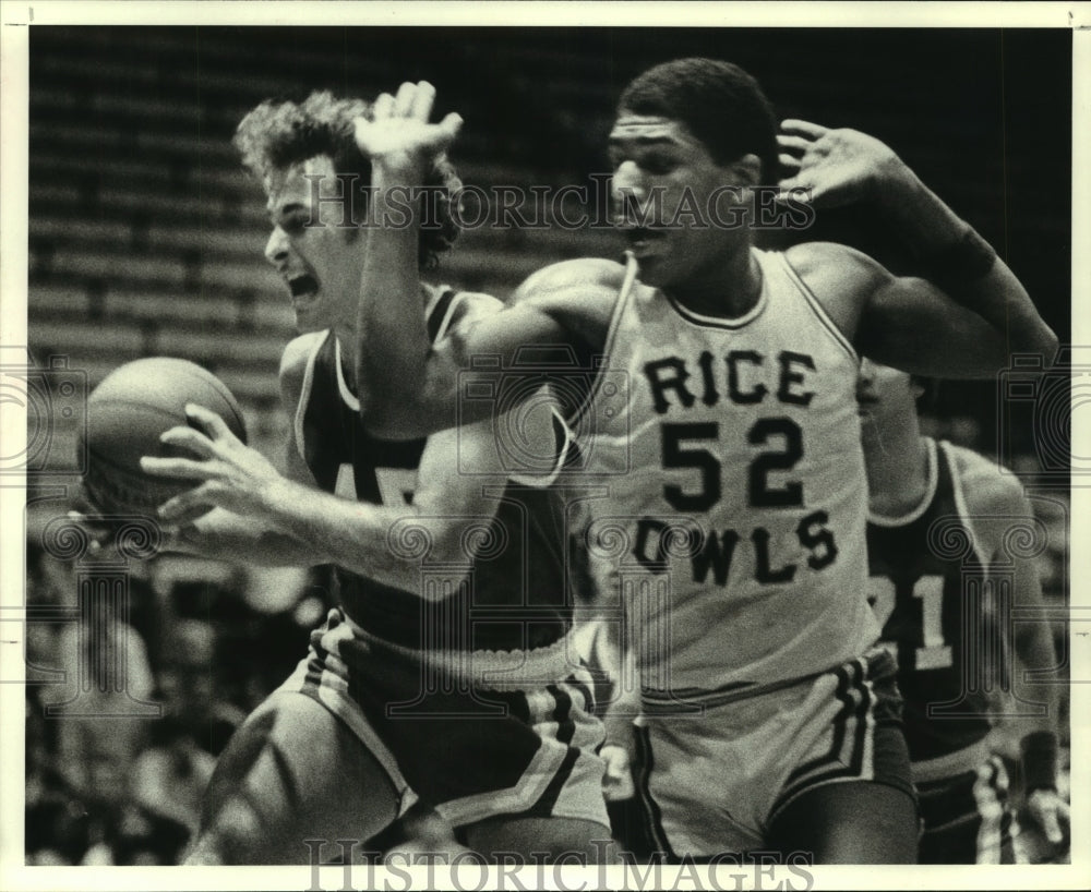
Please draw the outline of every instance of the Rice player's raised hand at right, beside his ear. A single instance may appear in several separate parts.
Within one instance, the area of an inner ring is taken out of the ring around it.
[[[830,130],[789,119],[777,135],[786,190],[808,190],[816,207],[839,207],[882,197],[888,178],[906,170],[901,159],[874,136],[858,130]]]

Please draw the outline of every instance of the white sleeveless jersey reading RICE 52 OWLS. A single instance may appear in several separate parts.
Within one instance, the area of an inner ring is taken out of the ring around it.
[[[587,503],[587,543],[624,604],[646,703],[757,692],[879,634],[859,360],[784,255],[755,253],[762,294],[733,320],[630,276],[582,419],[586,471],[609,490]]]

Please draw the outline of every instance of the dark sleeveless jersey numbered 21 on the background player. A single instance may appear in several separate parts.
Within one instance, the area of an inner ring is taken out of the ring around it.
[[[988,733],[983,654],[997,640],[981,600],[981,556],[944,546],[974,541],[954,447],[927,445],[928,494],[921,506],[900,518],[872,514],[867,523],[868,601],[884,624],[883,640],[897,650],[914,762],[964,749]],[[943,541],[938,526],[928,534],[937,521]]]

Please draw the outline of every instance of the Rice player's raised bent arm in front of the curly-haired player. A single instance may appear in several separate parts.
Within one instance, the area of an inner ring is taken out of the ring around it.
[[[403,84],[397,97],[376,100],[373,122],[357,126],[357,143],[372,160],[379,203],[379,225],[364,249],[359,329],[367,349],[360,351],[358,379],[364,424],[384,438],[418,437],[491,412],[458,403],[459,374],[476,357],[496,357],[506,367],[525,346],[574,340],[601,346],[616,296],[610,288],[623,275],[607,261],[558,264],[528,279],[509,309],[463,321],[433,346],[417,299],[418,229],[405,225],[405,214],[383,210],[393,205],[394,190],[403,190],[401,197],[423,182],[428,159],[457,134],[457,116],[427,123],[434,96],[428,84]]]

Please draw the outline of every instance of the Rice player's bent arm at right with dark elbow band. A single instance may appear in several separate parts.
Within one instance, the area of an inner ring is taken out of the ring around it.
[[[1052,357],[1057,339],[1007,265],[885,144],[853,130],[789,120],[778,136],[781,185],[816,208],[866,201],[894,225],[920,268],[897,277],[842,245],[789,258],[861,352],[908,372],[988,376],[1011,351]],[[920,333],[920,337],[907,337]]]

